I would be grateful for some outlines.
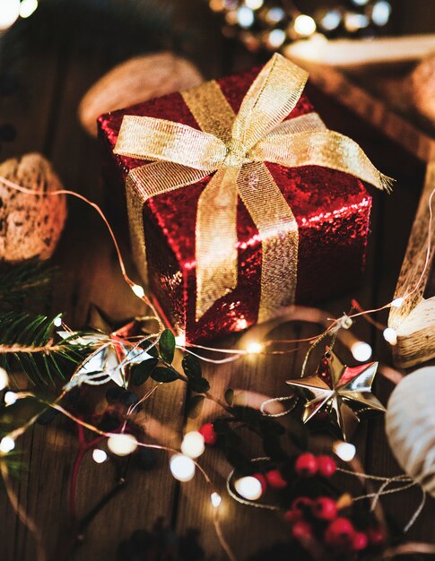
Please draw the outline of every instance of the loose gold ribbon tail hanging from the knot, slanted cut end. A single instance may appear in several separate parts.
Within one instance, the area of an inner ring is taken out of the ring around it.
[[[199,197],[196,215],[196,321],[237,286],[237,177],[221,168]]]

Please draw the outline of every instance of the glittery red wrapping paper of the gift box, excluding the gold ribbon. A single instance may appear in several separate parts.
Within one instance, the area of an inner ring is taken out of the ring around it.
[[[252,70],[219,81],[236,113],[257,72]],[[302,96],[288,118],[311,111],[314,108],[309,99]],[[105,175],[111,188],[119,190],[124,189],[128,171],[146,163],[112,152],[124,115],[164,118],[199,128],[178,93],[101,116]],[[296,302],[313,304],[352,289],[361,278],[370,222],[371,197],[361,181],[317,166],[283,168],[269,163],[266,166],[299,226]],[[153,197],[144,204],[149,288],[170,324],[178,331],[185,331],[187,341],[192,342],[255,324],[260,298],[261,243],[257,228],[239,200],[238,286],[220,298],[198,322],[195,320],[196,208],[209,180],[207,177],[195,185]]]

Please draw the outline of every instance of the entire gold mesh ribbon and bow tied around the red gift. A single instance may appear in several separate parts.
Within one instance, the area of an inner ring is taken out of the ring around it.
[[[235,115],[217,82],[181,92],[201,130],[153,117],[126,115],[114,152],[155,160],[126,178],[136,259],[146,263],[142,209],[157,194],[195,184],[215,172],[196,215],[196,320],[237,285],[238,195],[262,244],[258,322],[294,301],[298,225],[265,161],[287,168],[324,166],[379,189],[389,178],[356,142],[327,130],[317,114],[283,121],[296,106],[308,73],[274,55],[258,74]]]

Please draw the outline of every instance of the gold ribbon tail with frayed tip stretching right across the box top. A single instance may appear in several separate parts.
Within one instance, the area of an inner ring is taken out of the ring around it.
[[[335,131],[298,134],[269,134],[252,151],[256,160],[270,161],[286,168],[322,166],[344,171],[382,191],[390,193],[394,179],[380,173],[361,147]]]

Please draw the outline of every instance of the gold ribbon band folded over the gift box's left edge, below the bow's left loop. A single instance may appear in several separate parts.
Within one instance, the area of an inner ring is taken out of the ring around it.
[[[132,169],[126,177],[130,240],[136,267],[144,280],[145,287],[149,282],[144,234],[144,203],[152,196],[196,183],[207,175],[206,171],[186,168],[171,162],[154,162]]]

